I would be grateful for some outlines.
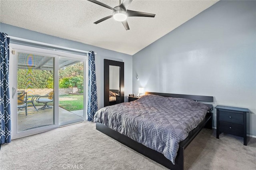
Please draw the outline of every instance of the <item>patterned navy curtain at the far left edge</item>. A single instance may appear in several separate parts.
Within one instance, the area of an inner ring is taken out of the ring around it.
[[[7,34],[0,32],[0,145],[11,142],[11,111],[9,94],[9,43]]]

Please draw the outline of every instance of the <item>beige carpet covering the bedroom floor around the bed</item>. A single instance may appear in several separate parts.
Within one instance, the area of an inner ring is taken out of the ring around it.
[[[185,150],[185,169],[255,170],[256,138],[242,138],[203,129]],[[13,140],[0,150],[1,170],[164,170],[83,122]]]

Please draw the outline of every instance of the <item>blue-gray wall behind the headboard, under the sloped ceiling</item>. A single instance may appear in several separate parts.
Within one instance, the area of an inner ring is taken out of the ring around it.
[[[133,55],[132,80],[135,94],[144,87],[248,108],[256,135],[256,1],[220,1],[148,45]]]

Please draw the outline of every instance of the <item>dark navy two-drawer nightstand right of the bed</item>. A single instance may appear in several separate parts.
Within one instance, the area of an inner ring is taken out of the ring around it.
[[[243,137],[244,145],[247,145],[246,113],[249,109],[220,105],[215,108],[217,111],[216,138],[219,138],[220,132],[233,134]]]

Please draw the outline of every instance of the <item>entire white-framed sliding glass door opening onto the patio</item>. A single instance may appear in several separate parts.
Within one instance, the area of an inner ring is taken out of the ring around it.
[[[84,121],[85,57],[10,47],[12,138]]]

